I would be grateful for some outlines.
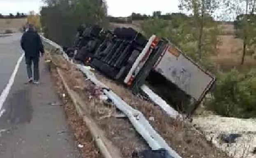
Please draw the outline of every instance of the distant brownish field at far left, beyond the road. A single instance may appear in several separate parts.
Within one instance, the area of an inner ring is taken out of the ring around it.
[[[5,33],[6,30],[19,32],[20,28],[27,22],[26,18],[18,19],[0,19],[0,33]]]

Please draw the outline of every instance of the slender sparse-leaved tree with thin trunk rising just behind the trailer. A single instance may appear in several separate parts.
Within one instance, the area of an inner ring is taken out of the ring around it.
[[[219,5],[217,0],[180,0],[179,8],[182,11],[192,12],[197,30],[197,53],[202,59],[204,27],[206,16],[212,16]]]

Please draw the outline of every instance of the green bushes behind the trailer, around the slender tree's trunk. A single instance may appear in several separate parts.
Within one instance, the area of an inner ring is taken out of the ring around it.
[[[149,18],[143,22],[142,30],[146,37],[155,34],[168,39],[204,69],[215,73],[216,67],[209,57],[216,52],[219,44],[217,23],[208,22],[203,30],[201,58],[198,54],[198,29],[193,23],[194,19],[189,16],[175,16],[171,21]]]

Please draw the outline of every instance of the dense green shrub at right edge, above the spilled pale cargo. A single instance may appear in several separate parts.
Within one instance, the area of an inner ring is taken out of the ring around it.
[[[217,78],[208,107],[226,117],[256,117],[256,71],[241,74],[232,70]]]

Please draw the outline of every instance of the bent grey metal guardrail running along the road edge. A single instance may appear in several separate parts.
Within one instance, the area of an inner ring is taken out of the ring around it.
[[[44,37],[42,37],[42,39],[44,41],[44,44],[48,45],[48,48],[55,48],[56,50],[60,51],[59,53],[62,53],[63,57],[67,61],[73,63],[69,60],[69,57],[64,53],[63,49],[58,44]],[[77,69],[83,72],[95,85],[101,87],[104,94],[111,99],[116,107],[127,115],[131,124],[134,126],[136,131],[145,139],[145,141],[148,143],[152,150],[165,149],[168,152],[167,158],[182,158],[178,155],[176,151],[169,147],[166,141],[159,135],[159,133],[157,133],[157,131],[154,130],[154,128],[150,125],[148,120],[140,111],[132,108],[130,105],[125,103],[125,101],[123,101],[117,94],[115,94],[106,85],[97,80],[94,73],[90,71],[87,66],[83,66],[81,64],[76,64],[76,66]]]

